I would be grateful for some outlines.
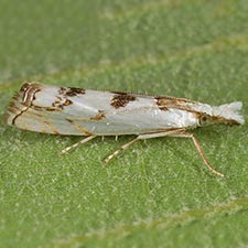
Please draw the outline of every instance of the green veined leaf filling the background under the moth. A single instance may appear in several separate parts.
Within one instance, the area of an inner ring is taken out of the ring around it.
[[[2,1],[0,111],[23,80],[244,103],[244,1]],[[0,247],[246,247],[248,132],[194,130],[191,140],[95,139],[0,126]]]

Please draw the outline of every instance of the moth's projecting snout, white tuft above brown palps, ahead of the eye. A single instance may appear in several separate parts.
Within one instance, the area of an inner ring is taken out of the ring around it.
[[[231,104],[214,106],[212,110],[212,123],[225,123],[225,125],[242,125],[245,122],[244,117],[239,114],[242,107],[242,103],[235,101]]]

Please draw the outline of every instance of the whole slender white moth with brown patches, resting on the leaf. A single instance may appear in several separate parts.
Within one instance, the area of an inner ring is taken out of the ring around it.
[[[186,98],[58,87],[34,82],[23,84],[13,96],[4,120],[24,130],[86,137],[62,153],[98,136],[137,136],[108,155],[105,163],[139,140],[190,138],[209,171],[224,176],[207,161],[191,130],[214,123],[242,125],[241,106],[240,101],[211,106]]]

